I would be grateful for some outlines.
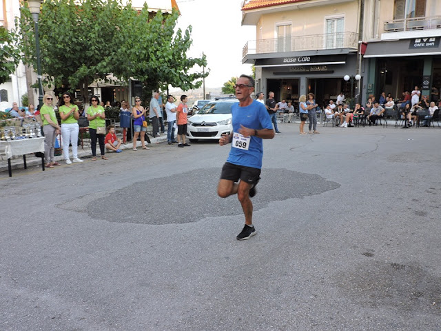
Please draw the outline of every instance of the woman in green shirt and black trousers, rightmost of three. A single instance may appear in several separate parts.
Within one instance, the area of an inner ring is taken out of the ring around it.
[[[97,134],[96,128],[104,128],[105,127],[105,113],[104,108],[99,106],[99,99],[94,95],[90,98],[92,101],[92,106],[88,108],[86,114],[88,115],[89,121],[89,133],[90,133],[90,144],[92,148],[92,161],[96,161],[96,139],[99,141],[99,149],[101,151],[101,159],[107,160],[107,157],[104,156],[104,138],[105,133]]]

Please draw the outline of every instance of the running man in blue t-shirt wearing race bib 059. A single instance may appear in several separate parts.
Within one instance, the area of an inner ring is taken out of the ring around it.
[[[256,234],[253,203],[249,198],[256,195],[256,185],[260,179],[262,139],[273,139],[275,133],[265,106],[250,97],[254,91],[254,79],[240,75],[234,90],[239,103],[232,106],[233,132],[223,134],[219,139],[220,146],[232,143],[232,148],[220,174],[218,196],[226,198],[237,194],[245,214],[245,226],[236,238],[245,240]]]

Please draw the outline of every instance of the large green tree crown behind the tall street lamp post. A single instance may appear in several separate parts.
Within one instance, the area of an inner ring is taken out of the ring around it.
[[[21,50],[37,68],[34,31],[25,4],[21,15]],[[88,86],[112,72],[106,58],[119,45],[115,35],[122,10],[118,0],[45,0],[39,15],[41,71],[44,83],[70,90],[79,88],[88,103]]]

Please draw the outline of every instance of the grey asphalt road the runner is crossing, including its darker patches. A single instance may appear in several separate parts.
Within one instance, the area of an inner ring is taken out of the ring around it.
[[[247,241],[229,146],[1,172],[0,330],[441,330],[441,130],[280,130]]]

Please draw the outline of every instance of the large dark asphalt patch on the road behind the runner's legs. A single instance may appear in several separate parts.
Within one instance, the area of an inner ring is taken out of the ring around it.
[[[197,222],[205,217],[242,214],[237,196],[217,195],[220,168],[139,181],[107,197],[88,203],[86,212],[94,219],[152,225]],[[272,201],[303,199],[340,187],[317,174],[287,169],[267,169],[260,175],[258,193],[252,199],[254,211]]]

